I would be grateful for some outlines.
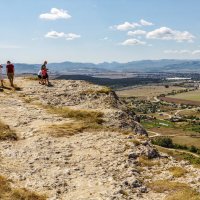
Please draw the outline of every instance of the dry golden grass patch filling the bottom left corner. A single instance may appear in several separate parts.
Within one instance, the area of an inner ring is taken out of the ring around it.
[[[0,176],[0,199],[3,200],[46,200],[44,195],[38,195],[26,189],[14,189],[10,182]]]

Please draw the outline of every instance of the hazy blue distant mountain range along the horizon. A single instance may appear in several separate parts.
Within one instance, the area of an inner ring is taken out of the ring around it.
[[[16,63],[16,73],[37,73],[40,64]],[[49,63],[48,68],[56,74],[92,74],[108,72],[190,72],[200,73],[200,60],[141,60],[127,63],[104,62],[94,63],[76,63],[62,62]]]

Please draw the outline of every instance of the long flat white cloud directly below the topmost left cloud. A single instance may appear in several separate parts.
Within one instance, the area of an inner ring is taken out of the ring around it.
[[[80,35],[77,35],[75,33],[64,33],[64,32],[57,32],[57,31],[50,31],[45,35],[46,38],[53,38],[53,39],[58,39],[58,38],[65,38],[66,40],[75,40],[80,38]]]

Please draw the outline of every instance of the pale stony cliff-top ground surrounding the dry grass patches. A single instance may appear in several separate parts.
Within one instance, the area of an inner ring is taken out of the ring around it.
[[[46,194],[49,200],[165,199],[167,192],[148,187],[155,180],[187,183],[200,191],[200,170],[158,152],[113,91],[84,81],[56,80],[51,87],[23,78],[16,83],[19,91],[0,92],[0,121],[19,138],[0,141],[0,175],[14,187]],[[51,114],[41,105],[102,112],[110,131],[53,137],[49,127],[74,119]],[[142,165],[143,157],[155,165]],[[188,173],[175,178],[168,171],[174,166]]]

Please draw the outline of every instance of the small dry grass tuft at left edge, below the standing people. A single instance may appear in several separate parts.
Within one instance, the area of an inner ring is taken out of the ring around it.
[[[2,122],[0,122],[0,140],[17,140],[16,133]]]

